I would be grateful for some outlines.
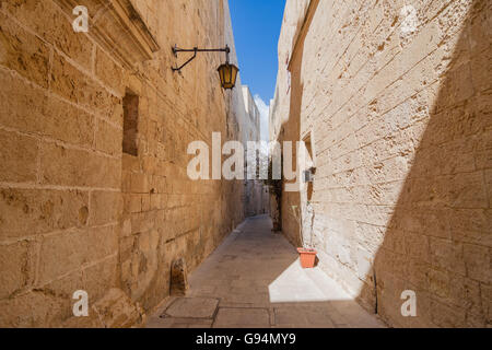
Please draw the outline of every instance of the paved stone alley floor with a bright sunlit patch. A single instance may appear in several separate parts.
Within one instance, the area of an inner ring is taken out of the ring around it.
[[[194,271],[184,298],[169,298],[149,328],[383,327],[318,268],[271,233],[267,215],[250,218]]]

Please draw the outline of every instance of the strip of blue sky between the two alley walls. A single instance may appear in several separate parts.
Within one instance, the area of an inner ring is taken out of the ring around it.
[[[229,5],[241,81],[266,103],[262,106],[257,96],[258,108],[263,114],[276,92],[277,45],[285,0],[229,0]]]

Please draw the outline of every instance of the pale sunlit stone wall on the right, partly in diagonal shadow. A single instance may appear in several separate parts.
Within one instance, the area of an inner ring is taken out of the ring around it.
[[[490,326],[492,3],[321,0],[297,15],[272,119],[280,140],[313,136],[317,170],[311,200],[282,198],[285,235],[298,244],[301,206],[321,268],[393,326]]]

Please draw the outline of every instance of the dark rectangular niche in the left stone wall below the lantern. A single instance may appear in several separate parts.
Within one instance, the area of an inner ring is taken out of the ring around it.
[[[139,96],[127,90],[124,101],[124,153],[138,155]]]

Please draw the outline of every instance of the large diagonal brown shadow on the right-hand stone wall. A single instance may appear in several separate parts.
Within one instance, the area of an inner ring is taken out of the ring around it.
[[[491,324],[491,16],[473,2],[374,260],[373,306],[394,326]],[[405,290],[417,317],[401,316]],[[370,295],[364,284],[360,301]]]

